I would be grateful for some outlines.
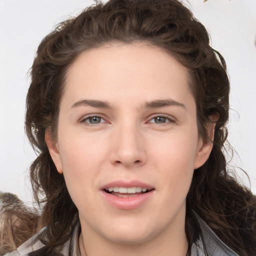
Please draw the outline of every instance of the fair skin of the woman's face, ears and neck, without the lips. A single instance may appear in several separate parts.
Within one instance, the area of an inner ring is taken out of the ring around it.
[[[45,140],[78,208],[82,255],[185,255],[185,197],[212,147],[198,136],[188,82],[184,66],[142,43],[91,49],[70,66],[57,139],[48,129]],[[178,104],[148,104],[166,99]],[[90,123],[92,116],[99,123]],[[116,179],[154,190],[135,209],[114,208],[100,187]]]

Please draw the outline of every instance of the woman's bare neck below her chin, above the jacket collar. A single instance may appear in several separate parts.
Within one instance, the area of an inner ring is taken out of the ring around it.
[[[82,222],[81,230],[79,237],[81,256],[185,256],[188,248],[184,218],[180,216],[161,233],[137,244],[110,241],[93,232]]]

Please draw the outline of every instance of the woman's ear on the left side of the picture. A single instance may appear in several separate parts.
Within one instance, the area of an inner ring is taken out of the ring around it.
[[[58,151],[58,144],[55,140],[52,139],[50,128],[46,129],[44,139],[49,149],[51,159],[54,162],[58,173],[61,174],[63,171],[62,171],[62,161]]]

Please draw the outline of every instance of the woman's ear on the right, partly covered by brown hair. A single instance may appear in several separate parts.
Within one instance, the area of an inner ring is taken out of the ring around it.
[[[203,140],[201,137],[198,138],[197,144],[197,152],[194,161],[194,169],[202,166],[206,160],[208,159],[212,146],[213,146],[213,138],[214,138],[214,128],[215,122],[218,119],[218,113],[212,114],[209,116],[210,122],[206,124],[206,132],[208,134],[208,138]]]

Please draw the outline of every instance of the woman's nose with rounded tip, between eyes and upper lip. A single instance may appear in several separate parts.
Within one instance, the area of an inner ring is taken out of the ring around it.
[[[111,138],[110,161],[126,168],[146,162],[146,141],[136,125],[120,125]]]

